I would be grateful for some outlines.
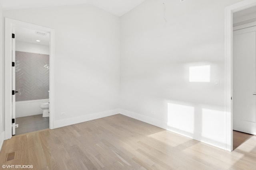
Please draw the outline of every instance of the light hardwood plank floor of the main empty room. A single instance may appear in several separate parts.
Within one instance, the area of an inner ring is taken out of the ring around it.
[[[16,157],[6,161],[10,152]],[[228,152],[114,115],[14,136],[2,146],[3,164],[34,170],[255,170],[256,137]]]

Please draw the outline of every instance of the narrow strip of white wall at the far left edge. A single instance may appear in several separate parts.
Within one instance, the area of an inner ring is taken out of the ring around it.
[[[2,6],[0,2],[0,149],[2,147],[3,141],[4,141],[4,59],[3,59],[3,47],[2,47],[2,41],[3,41],[3,20],[2,20]]]

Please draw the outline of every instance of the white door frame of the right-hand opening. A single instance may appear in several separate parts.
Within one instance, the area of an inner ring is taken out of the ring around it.
[[[225,8],[225,91],[226,91],[226,150],[233,150],[233,13],[252,6],[256,0],[244,0]]]

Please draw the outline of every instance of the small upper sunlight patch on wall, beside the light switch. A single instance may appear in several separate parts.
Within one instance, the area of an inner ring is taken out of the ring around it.
[[[190,66],[189,82],[210,82],[211,66]]]

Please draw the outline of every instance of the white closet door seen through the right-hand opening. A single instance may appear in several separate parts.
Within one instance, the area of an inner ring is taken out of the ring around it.
[[[233,33],[233,129],[256,135],[256,26]]]

